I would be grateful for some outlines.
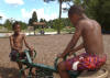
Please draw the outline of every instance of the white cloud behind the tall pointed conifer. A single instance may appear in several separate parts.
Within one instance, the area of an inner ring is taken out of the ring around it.
[[[33,9],[31,10],[30,12],[28,12],[25,9],[21,9],[21,12],[22,12],[22,18],[25,22],[29,21],[30,18],[32,18],[32,13],[33,11],[36,12],[37,14],[37,19],[45,19],[46,21],[50,21],[50,20],[53,20],[53,19],[56,19],[57,18],[57,14],[56,13],[53,13],[53,14],[45,14],[44,13],[44,9]]]

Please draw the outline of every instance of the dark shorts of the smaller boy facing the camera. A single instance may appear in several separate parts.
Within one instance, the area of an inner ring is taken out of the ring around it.
[[[12,52],[10,53],[9,57],[10,57],[10,60],[16,62],[18,59],[23,59],[23,58],[25,58],[25,54],[24,54],[24,53],[19,54],[18,51],[12,51]]]

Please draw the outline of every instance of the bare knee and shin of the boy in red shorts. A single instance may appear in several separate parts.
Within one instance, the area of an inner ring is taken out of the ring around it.
[[[64,62],[58,64],[58,71],[59,71],[61,78],[69,78],[69,75],[66,70],[66,66]]]

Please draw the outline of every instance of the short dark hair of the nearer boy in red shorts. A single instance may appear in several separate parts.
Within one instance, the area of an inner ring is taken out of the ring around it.
[[[72,5],[70,9],[68,10],[68,15],[75,13],[81,15],[84,13],[84,9],[80,5]]]

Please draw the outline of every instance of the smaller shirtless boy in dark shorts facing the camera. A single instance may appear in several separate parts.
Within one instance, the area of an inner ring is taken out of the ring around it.
[[[30,47],[29,44],[25,41],[25,35],[21,34],[21,25],[19,22],[14,22],[12,25],[12,29],[14,31],[13,35],[10,36],[10,46],[11,46],[11,60],[15,62],[16,60],[16,54],[20,54],[20,58],[24,58],[25,54],[23,53],[23,43],[25,46],[30,49],[30,54],[32,56],[33,47]],[[19,68],[22,68],[22,64],[18,62]],[[25,78],[25,74],[23,73],[23,78]]]

